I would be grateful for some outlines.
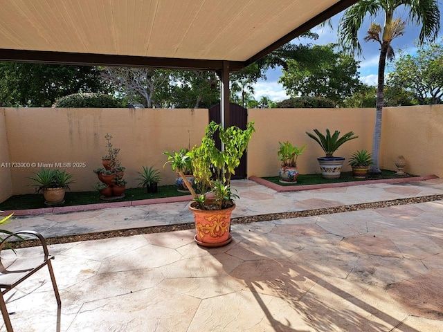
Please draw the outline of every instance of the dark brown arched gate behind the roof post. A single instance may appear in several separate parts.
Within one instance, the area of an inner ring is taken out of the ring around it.
[[[230,112],[230,122],[231,125],[237,126],[240,129],[246,129],[246,124],[248,123],[248,110],[240,105],[233,104],[232,102],[229,104],[229,112]],[[220,117],[220,105],[215,105],[209,109],[209,121],[215,121],[217,123],[221,122]],[[220,149],[221,143],[217,140],[217,147]],[[235,174],[233,175],[233,179],[235,178],[246,178],[248,174],[246,174],[246,153],[240,159],[240,165],[235,169]]]

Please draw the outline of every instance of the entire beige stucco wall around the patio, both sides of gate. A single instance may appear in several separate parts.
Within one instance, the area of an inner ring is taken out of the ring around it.
[[[320,146],[306,131],[326,128],[359,136],[340,147],[336,156],[350,158],[357,149],[372,150],[374,109],[250,109],[256,133],[248,148],[248,176],[278,174],[278,142],[307,144],[298,157],[301,173],[319,172]],[[28,176],[39,165],[71,163],[73,190],[92,190],[97,182],[93,169],[106,154],[105,134],[120,148],[119,159],[127,168],[125,179],[136,187],[137,171],[154,165],[161,184],[174,182],[174,172],[163,156],[165,150],[192,147],[201,142],[208,124],[207,109],[1,109],[1,163],[35,163],[35,167],[0,167],[0,201],[12,194],[33,192]],[[380,167],[396,169],[394,160],[406,158],[406,172],[443,177],[443,105],[383,109]],[[77,166],[73,167],[75,163]],[[84,163],[86,167],[81,167]],[[63,167],[60,167],[63,169]],[[345,162],[343,170],[350,170]]]

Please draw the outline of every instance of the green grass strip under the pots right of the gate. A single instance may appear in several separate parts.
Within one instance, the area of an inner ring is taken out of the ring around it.
[[[386,179],[386,178],[405,178],[408,176],[415,175],[397,175],[395,171],[387,171],[385,169],[381,169],[381,174],[377,176],[368,176],[368,178],[354,178],[352,176],[352,172],[341,172],[340,178],[334,179],[326,179],[321,176],[321,174],[300,174],[297,178],[297,183],[280,183],[278,176],[264,177],[265,180],[277,183],[278,185],[319,185],[323,183],[340,183],[340,182],[350,182],[350,181],[365,181],[365,180],[378,180],[378,179]]]

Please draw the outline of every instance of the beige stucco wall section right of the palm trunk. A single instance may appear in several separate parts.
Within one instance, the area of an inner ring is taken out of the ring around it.
[[[406,172],[443,178],[443,104],[386,108],[382,123],[384,167],[402,155]]]

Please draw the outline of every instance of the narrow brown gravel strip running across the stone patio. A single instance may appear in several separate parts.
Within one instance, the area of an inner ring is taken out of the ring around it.
[[[232,224],[242,224],[242,223],[255,223],[258,221],[272,221],[278,219],[291,219],[291,218],[302,218],[305,216],[320,216],[323,214],[334,214],[341,212],[351,212],[359,210],[369,210],[369,209],[379,209],[388,208],[390,206],[397,205],[407,205],[407,204],[417,204],[426,203],[431,201],[443,201],[443,194],[441,195],[429,195],[421,197],[412,197],[407,199],[393,199],[390,201],[380,201],[374,203],[359,203],[352,205],[341,205],[334,208],[321,208],[314,210],[303,210],[296,212],[280,212],[280,213],[270,213],[270,214],[260,214],[257,216],[240,216],[233,218],[231,220]],[[107,232],[94,232],[88,234],[78,234],[78,235],[67,235],[63,237],[51,237],[46,239],[48,245],[60,244],[60,243],[71,243],[78,241],[89,241],[89,240],[99,240],[99,239],[110,239],[113,237],[131,237],[132,235],[138,234],[151,234],[151,233],[161,233],[161,232],[174,232],[177,230],[190,230],[195,227],[194,223],[181,223],[177,225],[159,225],[159,226],[149,226],[142,228],[130,228],[125,230],[111,230]],[[21,241],[14,243],[14,248],[28,248],[33,246],[39,246],[38,240]]]

